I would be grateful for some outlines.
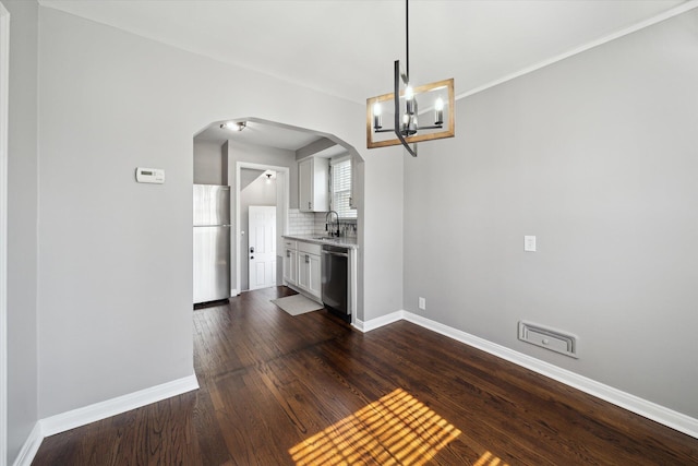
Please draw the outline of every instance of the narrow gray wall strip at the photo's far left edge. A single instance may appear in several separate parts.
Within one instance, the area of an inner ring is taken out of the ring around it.
[[[38,5],[33,1],[5,0],[2,3],[11,14],[7,458],[8,464],[12,464],[38,419],[36,331]]]

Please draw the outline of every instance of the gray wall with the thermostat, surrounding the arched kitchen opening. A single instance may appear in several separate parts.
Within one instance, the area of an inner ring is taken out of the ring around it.
[[[40,13],[43,418],[192,374],[195,133],[212,121],[256,117],[336,134],[359,148],[365,134],[363,105],[51,9]],[[395,225],[381,210],[401,196],[401,182],[383,182],[401,178],[388,153],[364,164],[372,175],[366,198],[385,201],[366,206],[370,222],[359,229],[376,251],[364,259],[366,270],[401,284],[399,263],[378,263],[387,235],[376,232]],[[135,183],[136,166],[164,168],[167,182]],[[79,177],[76,167],[99,176]],[[296,191],[291,184],[291,206]],[[393,207],[401,212],[399,202]],[[399,309],[401,288],[378,282],[366,283],[374,288],[366,289],[366,308]]]

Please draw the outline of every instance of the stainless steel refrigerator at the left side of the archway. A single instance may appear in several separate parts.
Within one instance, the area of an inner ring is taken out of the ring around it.
[[[194,184],[194,303],[230,297],[230,187]]]

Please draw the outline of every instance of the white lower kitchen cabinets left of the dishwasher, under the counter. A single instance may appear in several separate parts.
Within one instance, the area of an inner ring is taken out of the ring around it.
[[[317,299],[322,299],[321,246],[285,240],[284,279]]]

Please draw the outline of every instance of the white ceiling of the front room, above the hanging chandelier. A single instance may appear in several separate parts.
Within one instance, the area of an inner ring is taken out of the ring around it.
[[[39,3],[359,104],[392,92],[393,62],[405,61],[402,0]],[[410,81],[454,77],[467,95],[689,3],[411,0]]]

